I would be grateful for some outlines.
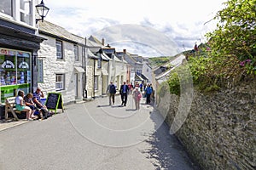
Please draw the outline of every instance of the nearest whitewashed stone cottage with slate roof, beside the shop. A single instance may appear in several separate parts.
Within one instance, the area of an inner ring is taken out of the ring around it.
[[[38,32],[46,39],[38,51],[38,87],[60,92],[64,104],[84,99],[84,38],[47,21],[39,24]]]

